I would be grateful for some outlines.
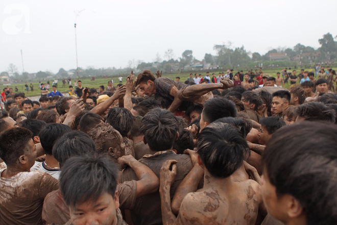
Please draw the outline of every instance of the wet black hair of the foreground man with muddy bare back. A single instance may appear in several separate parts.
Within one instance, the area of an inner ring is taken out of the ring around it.
[[[197,148],[208,172],[225,178],[242,166],[248,144],[237,128],[214,122],[200,132]]]

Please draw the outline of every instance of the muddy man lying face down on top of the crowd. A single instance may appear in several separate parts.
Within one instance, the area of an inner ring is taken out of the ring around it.
[[[204,104],[205,101],[213,97],[211,91],[215,89],[226,89],[234,84],[228,78],[221,80],[221,83],[187,85],[175,82],[167,77],[155,78],[151,71],[145,70],[140,73],[136,80],[136,85],[148,96],[159,94],[172,102],[169,111],[175,111],[183,101]]]

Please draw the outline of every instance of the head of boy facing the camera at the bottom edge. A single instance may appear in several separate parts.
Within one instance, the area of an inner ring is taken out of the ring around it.
[[[115,163],[104,156],[76,156],[66,161],[60,189],[74,224],[117,224],[117,172]]]

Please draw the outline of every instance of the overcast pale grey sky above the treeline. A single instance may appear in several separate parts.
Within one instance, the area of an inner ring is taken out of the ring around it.
[[[9,63],[22,72],[20,50],[26,72],[75,69],[74,11],[82,9],[82,68],[123,68],[132,59],[153,61],[157,52],[163,58],[168,48],[176,58],[188,49],[201,60],[228,41],[260,54],[299,42],[318,48],[323,34],[337,35],[336,0],[1,0],[0,9],[0,72]]]

